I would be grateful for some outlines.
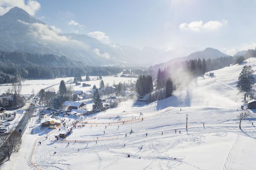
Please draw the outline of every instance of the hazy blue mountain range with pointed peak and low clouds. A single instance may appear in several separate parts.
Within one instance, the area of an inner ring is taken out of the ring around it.
[[[85,65],[119,66],[149,66],[174,58],[185,60],[227,56],[213,48],[198,51],[196,48],[177,47],[165,51],[152,47],[139,50],[126,45],[103,44],[85,34],[61,34],[61,30],[48,26],[18,7],[0,16],[0,50],[64,55],[71,60],[83,61]]]

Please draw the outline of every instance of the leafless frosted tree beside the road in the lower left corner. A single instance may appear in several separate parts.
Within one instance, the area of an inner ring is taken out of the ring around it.
[[[11,154],[18,151],[21,145],[21,138],[19,132],[12,132],[9,135],[0,136],[0,157],[5,156],[10,160]]]

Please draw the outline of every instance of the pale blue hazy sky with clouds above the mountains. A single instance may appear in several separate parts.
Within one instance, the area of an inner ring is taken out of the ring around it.
[[[256,0],[0,0],[61,33],[142,49],[213,47],[233,55],[256,47]]]

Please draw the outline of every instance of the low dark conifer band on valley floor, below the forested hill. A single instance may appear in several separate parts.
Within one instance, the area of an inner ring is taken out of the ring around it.
[[[0,84],[19,82],[23,79],[51,79],[76,75],[109,76],[120,73],[119,67],[0,67]]]

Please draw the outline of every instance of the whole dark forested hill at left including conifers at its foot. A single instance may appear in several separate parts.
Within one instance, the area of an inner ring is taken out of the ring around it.
[[[0,84],[23,79],[51,79],[77,75],[109,76],[123,71],[120,67],[85,66],[65,56],[39,55],[24,52],[0,52]]]

